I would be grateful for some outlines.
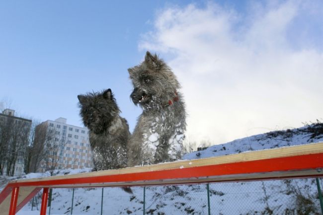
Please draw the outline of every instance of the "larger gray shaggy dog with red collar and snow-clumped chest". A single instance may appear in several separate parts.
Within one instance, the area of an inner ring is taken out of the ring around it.
[[[150,52],[128,72],[134,86],[130,97],[143,109],[129,140],[129,166],[180,158],[186,113],[176,76]]]

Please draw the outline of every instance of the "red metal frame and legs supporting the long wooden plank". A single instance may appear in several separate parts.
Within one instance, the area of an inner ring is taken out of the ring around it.
[[[316,143],[317,144],[317,143]],[[266,159],[209,164],[157,171],[143,171],[123,174],[77,174],[73,178],[61,176],[49,177],[43,180],[20,180],[10,182],[0,193],[0,205],[11,193],[9,215],[19,211],[37,192],[43,189],[41,215],[46,214],[46,205],[49,188],[60,187],[112,187],[112,186],[143,186],[189,184],[223,181],[264,180],[282,178],[323,177],[323,143],[317,144],[318,150],[312,150],[302,155],[288,155]],[[297,146],[296,146],[297,147]],[[243,160],[243,157],[242,157]],[[176,163],[176,165],[177,165]],[[139,167],[140,168],[140,167]],[[17,206],[19,188],[31,188],[27,196]],[[0,212],[0,215],[1,212]]]

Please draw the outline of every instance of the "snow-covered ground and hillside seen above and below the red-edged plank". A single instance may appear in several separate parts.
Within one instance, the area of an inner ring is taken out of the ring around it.
[[[294,130],[276,131],[247,137],[230,143],[185,154],[183,159],[197,159],[281,146],[323,142],[323,124]],[[89,169],[64,170],[57,174],[75,174]],[[44,177],[31,173],[26,178]],[[10,178],[12,179],[12,178]],[[9,180],[9,179],[8,179]],[[323,180],[320,179],[321,187]],[[207,215],[206,184],[133,187],[133,194],[120,188],[78,188],[74,190],[74,215]],[[47,214],[71,214],[73,189],[53,189],[52,206]],[[256,182],[212,183],[209,185],[211,215],[319,215],[320,203],[315,179],[272,180]],[[41,193],[34,206],[27,204],[18,215],[38,215]],[[102,201],[102,204],[101,204]],[[102,207],[101,207],[102,205]],[[33,209],[34,211],[31,211]]]

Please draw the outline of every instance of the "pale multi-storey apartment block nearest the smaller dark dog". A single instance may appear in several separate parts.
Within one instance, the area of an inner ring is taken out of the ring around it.
[[[38,126],[45,126],[48,136],[52,137],[47,145],[57,146],[57,159],[47,159],[47,163],[42,163],[40,171],[46,171],[48,166],[52,166],[53,163],[48,162],[56,162],[57,169],[93,167],[87,128],[69,125],[67,119],[62,117],[54,121],[47,120]],[[48,156],[53,156],[53,153]]]

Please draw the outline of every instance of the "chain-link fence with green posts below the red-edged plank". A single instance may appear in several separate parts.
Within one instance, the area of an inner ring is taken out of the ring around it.
[[[47,214],[322,215],[318,189],[322,181],[311,178],[132,187],[132,193],[121,188],[57,188],[52,191]],[[40,198],[35,197],[19,213],[39,210]]]

